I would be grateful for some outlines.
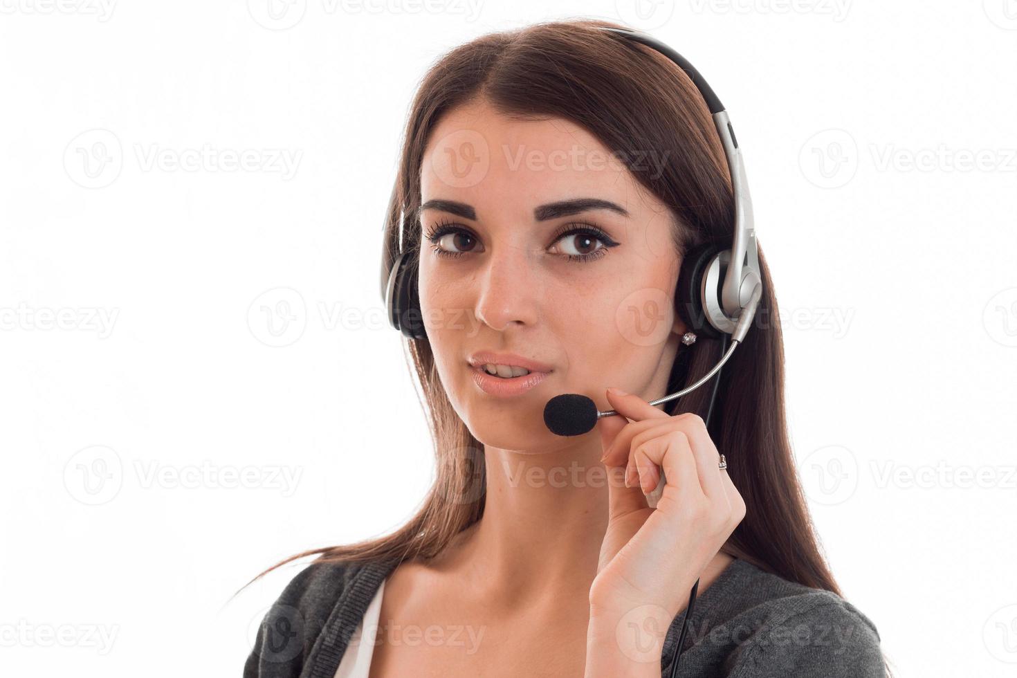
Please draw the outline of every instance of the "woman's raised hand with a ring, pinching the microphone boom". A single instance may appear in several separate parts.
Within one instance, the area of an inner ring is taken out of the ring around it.
[[[745,515],[745,503],[702,418],[670,416],[639,395],[607,399],[618,416],[598,423],[608,468],[609,516],[591,615],[624,615],[647,605],[673,619],[684,609],[700,573]],[[634,420],[627,423],[625,418]],[[625,487],[629,469],[632,487]],[[644,493],[666,476],[656,508]]]

